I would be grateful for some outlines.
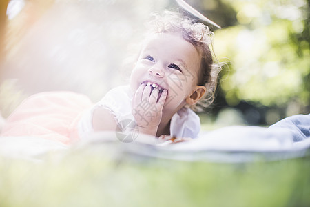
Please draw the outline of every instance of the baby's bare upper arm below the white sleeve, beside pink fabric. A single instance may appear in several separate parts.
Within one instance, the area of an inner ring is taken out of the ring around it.
[[[114,115],[111,114],[110,110],[103,107],[99,107],[94,110],[92,117],[94,132],[115,131],[116,125]]]

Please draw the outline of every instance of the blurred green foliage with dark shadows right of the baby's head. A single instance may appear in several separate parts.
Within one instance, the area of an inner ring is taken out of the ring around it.
[[[216,104],[243,115],[251,106],[258,114],[249,124],[309,113],[309,1],[188,2],[223,27],[214,28],[215,53],[227,63]]]

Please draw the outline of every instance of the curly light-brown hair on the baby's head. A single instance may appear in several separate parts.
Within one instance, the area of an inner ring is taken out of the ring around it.
[[[203,23],[195,22],[184,12],[165,11],[163,14],[153,13],[147,23],[149,33],[179,33],[183,39],[192,43],[201,56],[198,85],[205,86],[207,91],[198,103],[191,108],[195,111],[202,110],[214,101],[218,73],[222,66],[218,63],[212,48],[214,33]],[[214,62],[214,59],[217,63]]]

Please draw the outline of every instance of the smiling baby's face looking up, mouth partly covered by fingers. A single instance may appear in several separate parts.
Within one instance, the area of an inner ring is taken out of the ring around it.
[[[200,55],[179,34],[158,33],[147,39],[132,75],[130,87],[136,92],[142,83],[167,90],[164,109],[175,112],[185,106],[198,82]]]

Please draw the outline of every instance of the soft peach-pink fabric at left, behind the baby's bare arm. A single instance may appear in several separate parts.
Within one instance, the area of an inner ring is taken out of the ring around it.
[[[8,117],[1,136],[32,136],[72,144],[79,140],[77,124],[92,106],[85,95],[41,92],[25,99]]]

